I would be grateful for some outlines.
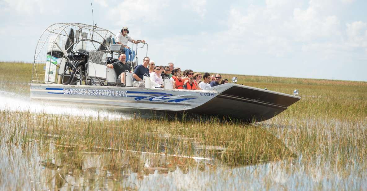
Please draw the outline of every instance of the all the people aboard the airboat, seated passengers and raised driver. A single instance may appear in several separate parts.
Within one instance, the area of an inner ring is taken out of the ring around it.
[[[194,73],[190,69],[181,73],[181,68],[174,68],[174,64],[172,62],[168,63],[168,66],[156,66],[155,62],[151,61],[149,57],[144,57],[143,64],[137,65],[132,72],[129,65],[130,63],[128,62],[131,62],[134,59],[135,53],[127,46],[127,42],[130,41],[137,44],[140,42],[145,43],[145,40],[134,40],[127,35],[128,33],[128,28],[124,26],[115,39],[116,43],[122,44],[123,47],[121,50],[124,50],[125,54],[121,54],[117,62],[107,65],[108,68],[115,69],[115,72],[119,75],[117,77],[117,84],[120,84],[121,87],[125,87],[126,71],[132,73],[132,78],[134,78],[132,86],[134,87],[144,87],[144,75],[150,78],[152,86],[155,88],[164,87],[163,79],[172,80],[174,89],[188,90],[202,90],[228,83],[228,80],[222,79],[220,74],[210,75],[205,72],[204,75],[202,75],[199,72]],[[128,58],[127,62],[126,58]]]

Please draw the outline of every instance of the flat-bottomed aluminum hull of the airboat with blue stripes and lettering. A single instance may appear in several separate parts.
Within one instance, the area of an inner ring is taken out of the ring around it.
[[[173,114],[203,114],[259,122],[286,110],[301,97],[226,83],[205,90],[30,84],[31,99]]]

